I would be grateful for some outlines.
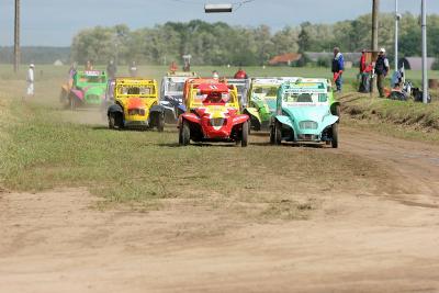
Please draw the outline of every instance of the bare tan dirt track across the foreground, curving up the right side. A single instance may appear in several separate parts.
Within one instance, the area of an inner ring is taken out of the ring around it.
[[[3,193],[0,292],[439,292],[439,147],[346,128],[341,139],[327,151],[396,179],[380,194],[324,195],[307,221],[183,202],[100,212],[85,189]]]

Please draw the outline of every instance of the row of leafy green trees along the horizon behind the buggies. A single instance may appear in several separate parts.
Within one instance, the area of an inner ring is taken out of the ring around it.
[[[439,56],[439,16],[428,18],[429,54]],[[71,45],[71,58],[79,63],[92,59],[108,63],[137,60],[147,64],[169,64],[191,54],[193,64],[262,65],[271,57],[291,52],[359,52],[370,47],[371,15],[335,24],[302,23],[272,32],[267,25],[258,27],[230,26],[223,22],[168,22],[154,27],[131,31],[126,25],[97,26],[79,32]],[[393,55],[394,16],[380,19],[380,46]],[[420,55],[418,16],[405,13],[401,21],[401,53]]]

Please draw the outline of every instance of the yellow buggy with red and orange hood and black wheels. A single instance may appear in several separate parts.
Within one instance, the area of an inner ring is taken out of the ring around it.
[[[158,86],[154,79],[116,78],[114,103],[108,109],[109,127],[114,129],[165,127],[164,106],[158,102]]]

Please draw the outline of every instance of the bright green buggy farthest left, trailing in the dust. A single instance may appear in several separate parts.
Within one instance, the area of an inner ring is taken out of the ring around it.
[[[71,82],[63,86],[61,102],[71,110],[100,106],[105,99],[106,80],[105,71],[78,71]]]

